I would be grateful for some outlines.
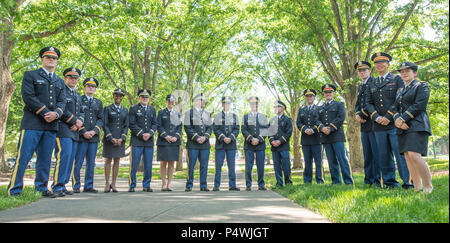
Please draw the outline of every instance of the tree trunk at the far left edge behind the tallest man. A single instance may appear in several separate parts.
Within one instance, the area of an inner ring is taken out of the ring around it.
[[[6,123],[8,121],[8,109],[11,96],[16,88],[11,77],[10,61],[11,52],[13,48],[12,30],[6,21],[2,21],[2,26],[5,28],[0,32],[0,170],[6,171],[8,166],[5,160],[5,136]]]

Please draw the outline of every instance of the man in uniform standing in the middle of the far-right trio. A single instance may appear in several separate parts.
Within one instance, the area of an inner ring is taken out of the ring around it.
[[[382,183],[388,188],[398,187],[395,179],[395,162],[403,180],[402,187],[412,188],[409,170],[405,157],[400,155],[398,139],[394,126],[394,102],[397,91],[405,84],[398,75],[389,72],[392,57],[388,53],[378,52],[372,55],[372,61],[378,77],[375,82],[369,82],[365,92],[368,115],[374,121],[375,139],[377,141]]]

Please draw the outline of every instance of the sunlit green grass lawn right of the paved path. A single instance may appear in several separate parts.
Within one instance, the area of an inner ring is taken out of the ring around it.
[[[427,159],[432,171],[449,168],[446,159]],[[438,173],[432,178],[431,194],[415,193],[404,189],[367,188],[363,173],[353,173],[355,186],[331,185],[326,174],[326,184],[303,184],[303,177],[293,174],[293,185],[275,191],[292,201],[309,208],[334,222],[340,223],[448,223],[449,176]],[[397,180],[401,183],[400,178]],[[328,184],[327,184],[328,183]],[[273,175],[266,184],[276,184]]]

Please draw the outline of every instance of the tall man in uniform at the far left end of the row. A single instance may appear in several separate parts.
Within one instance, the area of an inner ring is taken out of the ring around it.
[[[22,99],[25,103],[20,124],[20,137],[17,157],[11,181],[7,187],[8,195],[20,195],[23,189],[23,176],[28,162],[36,151],[35,191],[44,197],[53,197],[48,188],[48,177],[53,150],[55,147],[58,119],[65,109],[64,81],[56,76],[55,69],[60,58],[55,47],[44,47],[39,52],[42,67],[26,71],[22,80]]]

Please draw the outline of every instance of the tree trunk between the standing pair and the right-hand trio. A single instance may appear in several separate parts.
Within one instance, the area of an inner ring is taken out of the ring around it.
[[[358,93],[357,84],[348,84],[350,92],[344,94],[346,105],[346,119],[347,119],[347,144],[350,150],[350,164],[352,169],[364,168],[364,158],[361,144],[361,126],[355,120],[355,104]]]

